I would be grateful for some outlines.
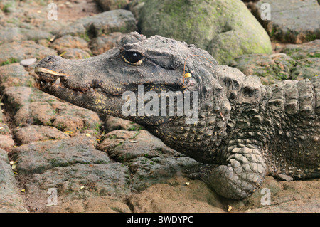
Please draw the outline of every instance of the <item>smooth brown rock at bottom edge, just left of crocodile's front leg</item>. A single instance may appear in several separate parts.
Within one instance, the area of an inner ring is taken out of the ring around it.
[[[172,184],[174,183],[174,184]],[[187,184],[188,185],[187,185]],[[134,213],[222,213],[219,196],[202,181],[178,177],[170,184],[156,184],[129,196]]]

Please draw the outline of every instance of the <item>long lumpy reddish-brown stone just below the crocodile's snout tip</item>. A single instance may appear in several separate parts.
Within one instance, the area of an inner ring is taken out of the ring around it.
[[[92,136],[99,130],[100,119],[97,113],[62,102],[36,88],[6,88],[4,99],[19,127],[45,125],[72,135],[89,132]]]

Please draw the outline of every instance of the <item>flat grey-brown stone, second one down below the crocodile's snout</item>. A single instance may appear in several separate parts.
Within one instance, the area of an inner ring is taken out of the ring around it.
[[[95,138],[71,137],[60,140],[32,142],[16,147],[12,152],[17,161],[19,176],[42,174],[54,167],[68,167],[73,164],[110,163],[105,154],[95,149]]]

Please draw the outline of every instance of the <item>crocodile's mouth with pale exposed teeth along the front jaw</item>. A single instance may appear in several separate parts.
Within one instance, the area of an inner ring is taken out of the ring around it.
[[[48,68],[36,67],[34,69],[36,74],[33,74],[35,78],[34,87],[39,90],[58,90],[59,92],[65,91],[68,93],[74,93],[74,95],[83,95],[90,93],[105,93],[105,95],[110,96],[120,96],[122,93],[113,92],[103,90],[103,88],[98,84],[94,83],[88,88],[75,88],[67,83],[67,78],[72,75],[68,75],[66,73],[59,73]]]

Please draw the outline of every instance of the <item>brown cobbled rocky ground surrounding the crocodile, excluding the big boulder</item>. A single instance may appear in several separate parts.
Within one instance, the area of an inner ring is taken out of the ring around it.
[[[316,0],[302,6],[286,1],[292,8],[280,4],[274,21],[262,23],[272,53],[242,54],[228,65],[265,84],[319,75],[319,24],[305,22],[304,12],[319,16],[320,6]],[[124,33],[139,31],[143,16],[144,1],[54,2],[57,21],[47,19],[48,1],[0,2],[0,212],[319,212],[319,179],[268,176],[250,198],[224,199],[202,181],[185,178],[183,169],[196,161],[143,127],[33,88],[34,67],[45,56],[104,53]],[[260,1],[246,4],[258,17]],[[299,23],[286,23],[298,9]],[[50,189],[58,194],[53,206]]]

